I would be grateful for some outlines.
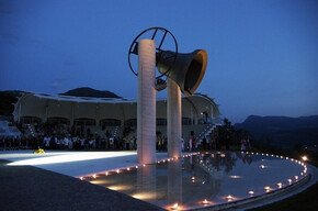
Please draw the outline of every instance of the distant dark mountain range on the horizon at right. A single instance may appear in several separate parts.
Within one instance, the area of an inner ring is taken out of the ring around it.
[[[237,130],[249,131],[254,140],[282,148],[296,144],[313,147],[318,145],[318,115],[287,118],[250,115]]]

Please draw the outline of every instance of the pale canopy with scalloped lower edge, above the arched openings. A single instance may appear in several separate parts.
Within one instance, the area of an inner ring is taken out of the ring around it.
[[[157,123],[167,120],[167,100],[157,99]],[[182,98],[182,119],[186,124],[200,124],[202,121],[219,121],[218,104],[204,95]],[[13,112],[14,121],[22,122],[34,118],[41,123],[49,119],[64,119],[71,126],[77,120],[92,120],[100,126],[104,120],[114,120],[124,125],[136,120],[137,100],[124,98],[89,98],[57,96],[46,93],[25,93],[19,98]],[[164,124],[164,123],[163,123]]]

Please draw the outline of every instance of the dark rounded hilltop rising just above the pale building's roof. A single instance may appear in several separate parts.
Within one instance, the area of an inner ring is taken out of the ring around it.
[[[111,91],[100,91],[89,87],[81,87],[77,89],[69,90],[65,93],[59,93],[60,96],[73,96],[73,97],[91,97],[91,98],[122,98]]]

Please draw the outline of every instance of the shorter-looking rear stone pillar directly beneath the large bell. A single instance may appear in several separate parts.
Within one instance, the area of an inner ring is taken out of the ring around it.
[[[179,86],[168,78],[167,99],[167,130],[168,130],[168,156],[181,156],[181,91]]]

